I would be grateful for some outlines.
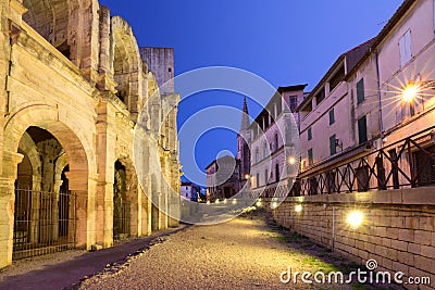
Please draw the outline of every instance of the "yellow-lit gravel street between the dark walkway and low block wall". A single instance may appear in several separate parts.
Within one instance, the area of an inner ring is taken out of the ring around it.
[[[293,273],[328,273],[355,265],[266,225],[261,216],[249,216],[165,237],[123,266],[85,280],[80,289],[355,289],[300,280],[284,285],[279,275],[289,266]]]

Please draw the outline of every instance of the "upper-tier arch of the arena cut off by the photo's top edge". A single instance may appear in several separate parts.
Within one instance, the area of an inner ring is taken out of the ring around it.
[[[98,0],[23,0],[23,5],[24,22],[79,68],[91,65],[92,53],[98,58],[91,48],[98,46],[92,29],[98,27]]]

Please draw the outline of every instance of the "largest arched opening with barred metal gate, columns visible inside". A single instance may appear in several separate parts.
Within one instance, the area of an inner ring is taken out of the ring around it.
[[[69,190],[67,155],[59,140],[28,127],[18,153],[13,259],[71,249],[76,237],[76,196]]]

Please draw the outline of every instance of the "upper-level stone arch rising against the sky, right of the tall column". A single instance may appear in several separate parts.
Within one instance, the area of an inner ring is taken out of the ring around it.
[[[128,23],[120,16],[111,18],[110,70],[116,83],[116,96],[125,103],[136,121],[139,112],[139,76],[142,61],[136,37]]]

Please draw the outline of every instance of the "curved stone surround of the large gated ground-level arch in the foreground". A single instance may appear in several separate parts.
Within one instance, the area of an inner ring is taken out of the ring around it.
[[[67,124],[67,125],[66,125]],[[71,116],[60,114],[54,106],[28,105],[15,113],[7,121],[4,128],[3,152],[17,152],[18,143],[27,128],[39,127],[50,133],[62,146],[69,155],[70,173],[67,175],[70,189],[77,194],[76,217],[77,230],[75,241],[77,247],[87,247],[95,242],[95,211],[88,209],[94,204],[92,197],[96,187],[96,161],[92,154],[91,141],[84,133],[88,128],[78,126]],[[18,163],[18,162],[16,162]],[[8,167],[15,168],[17,164],[3,162],[3,175]],[[15,176],[9,176],[11,180]],[[11,196],[13,188],[10,188]],[[12,218],[12,217],[10,217]],[[11,255],[12,255],[12,249]]]

